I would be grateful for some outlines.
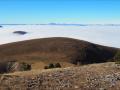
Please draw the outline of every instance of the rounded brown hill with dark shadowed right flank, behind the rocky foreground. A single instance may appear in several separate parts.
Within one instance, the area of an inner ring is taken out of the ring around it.
[[[43,69],[50,63],[62,67],[113,61],[118,49],[71,38],[43,38],[0,46],[0,62],[19,61]]]

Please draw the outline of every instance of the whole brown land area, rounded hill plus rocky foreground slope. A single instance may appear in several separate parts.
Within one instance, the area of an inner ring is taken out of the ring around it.
[[[117,48],[72,38],[4,44],[0,46],[0,90],[119,90],[120,65],[111,62],[115,59],[120,59]],[[61,68],[44,69],[56,63]],[[4,72],[6,67],[9,73]]]

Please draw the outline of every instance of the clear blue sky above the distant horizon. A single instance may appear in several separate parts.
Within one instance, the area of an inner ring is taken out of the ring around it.
[[[0,0],[1,24],[120,24],[120,0]]]

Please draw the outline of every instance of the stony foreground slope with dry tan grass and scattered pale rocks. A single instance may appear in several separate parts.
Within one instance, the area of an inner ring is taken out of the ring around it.
[[[0,90],[119,90],[120,66],[91,64],[0,76]]]

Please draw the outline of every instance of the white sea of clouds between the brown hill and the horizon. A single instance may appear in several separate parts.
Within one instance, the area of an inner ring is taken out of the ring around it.
[[[0,28],[0,44],[47,38],[69,37],[89,41],[110,47],[120,48],[120,26],[105,25],[2,25]],[[14,34],[14,31],[28,32],[24,35]]]

